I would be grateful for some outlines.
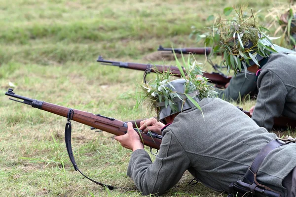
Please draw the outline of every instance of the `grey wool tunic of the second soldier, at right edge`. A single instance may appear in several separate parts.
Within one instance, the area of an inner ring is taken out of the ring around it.
[[[252,119],[271,131],[273,118],[281,115],[296,121],[296,55],[271,54],[257,81],[258,98]]]

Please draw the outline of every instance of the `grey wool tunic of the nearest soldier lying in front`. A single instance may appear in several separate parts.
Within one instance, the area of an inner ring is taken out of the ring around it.
[[[163,194],[188,170],[215,191],[228,191],[231,182],[242,180],[261,148],[276,138],[260,128],[234,105],[219,98],[205,98],[197,108],[176,116],[163,130],[159,153],[152,163],[145,150],[132,153],[127,175],[144,194]],[[282,180],[296,166],[296,144],[271,151],[259,168],[259,183],[280,191]]]

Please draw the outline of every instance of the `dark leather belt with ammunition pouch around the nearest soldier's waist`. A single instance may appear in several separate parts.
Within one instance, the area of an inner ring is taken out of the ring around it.
[[[273,149],[290,142],[296,142],[296,138],[286,140],[276,138],[266,144],[255,157],[252,165],[248,168],[243,181],[238,180],[236,183],[231,183],[229,185],[228,197],[280,197],[279,192],[257,182],[257,171],[264,158]]]

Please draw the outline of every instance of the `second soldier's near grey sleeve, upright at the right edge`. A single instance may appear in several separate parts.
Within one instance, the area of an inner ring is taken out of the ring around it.
[[[273,119],[282,115],[287,89],[283,81],[272,71],[260,74],[259,94],[252,119],[267,131],[273,127]]]

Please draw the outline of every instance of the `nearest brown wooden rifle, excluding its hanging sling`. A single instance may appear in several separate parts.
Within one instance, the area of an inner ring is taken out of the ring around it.
[[[24,100],[22,103],[32,105],[32,107],[48,111],[50,113],[68,117],[68,112],[71,108],[63,107],[60,105],[52,104],[49,102],[39,101],[36,99],[30,99],[26,97],[22,97],[19,95],[14,94],[12,89],[9,89],[8,92],[5,93],[5,95],[14,97],[17,99]],[[19,100],[12,99],[14,101],[21,102]],[[102,116],[100,114],[93,114],[85,111],[80,111],[77,109],[73,109],[74,114],[72,120],[82,123],[84,125],[88,125],[90,127],[97,128],[102,131],[106,131],[109,133],[112,133],[114,135],[124,135],[127,131],[127,124],[125,122],[122,122],[120,120],[116,120],[114,118]],[[133,121],[131,121],[133,122]],[[142,143],[144,145],[147,145],[151,148],[159,149],[159,146],[161,144],[162,136],[151,136],[154,133],[144,133],[142,131],[139,131],[137,129],[134,129],[137,131],[137,133],[140,135],[140,139],[142,140]],[[159,137],[159,138],[157,138]]]

